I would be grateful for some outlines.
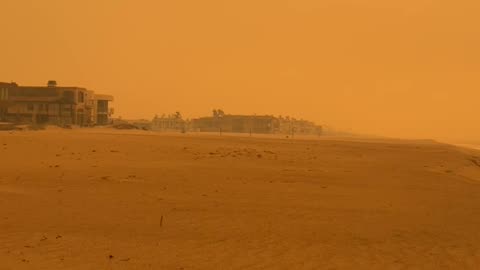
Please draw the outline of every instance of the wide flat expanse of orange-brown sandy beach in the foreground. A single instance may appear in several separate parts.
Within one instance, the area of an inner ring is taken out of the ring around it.
[[[0,133],[0,269],[480,269],[480,153]]]

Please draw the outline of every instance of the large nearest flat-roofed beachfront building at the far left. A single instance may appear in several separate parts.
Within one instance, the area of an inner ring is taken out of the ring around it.
[[[0,82],[0,122],[107,125],[113,97],[98,95],[81,87],[19,86]]]

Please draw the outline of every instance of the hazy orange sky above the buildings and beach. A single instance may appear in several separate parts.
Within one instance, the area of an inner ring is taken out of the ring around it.
[[[480,139],[480,1],[0,0],[0,81],[83,86],[116,115],[291,115]]]

